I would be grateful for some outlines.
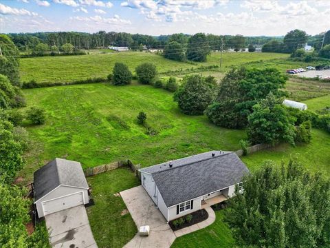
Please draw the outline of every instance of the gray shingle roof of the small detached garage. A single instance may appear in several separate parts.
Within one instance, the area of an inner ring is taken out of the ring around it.
[[[58,185],[88,188],[81,164],[63,158],[55,158],[34,172],[34,200],[39,200]]]

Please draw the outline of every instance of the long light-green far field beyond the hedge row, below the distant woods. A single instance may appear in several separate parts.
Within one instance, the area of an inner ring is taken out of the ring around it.
[[[232,65],[241,65],[251,61],[287,58],[288,54],[225,52],[223,65],[219,71],[225,71]],[[186,63],[164,59],[163,56],[148,52],[109,52],[105,54],[87,54],[82,56],[44,56],[20,60],[21,80],[28,82],[71,82],[88,78],[106,78],[112,72],[115,62],[122,62],[133,72],[137,65],[150,62],[156,65],[159,73],[170,70],[186,70],[201,66],[219,65],[220,53],[212,52],[205,63]],[[217,69],[218,70],[218,69]],[[169,72],[170,73],[170,72]]]

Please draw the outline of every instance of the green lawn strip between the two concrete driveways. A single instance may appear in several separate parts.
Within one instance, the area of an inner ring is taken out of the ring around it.
[[[137,228],[130,214],[122,215],[126,205],[115,193],[139,185],[128,168],[87,178],[95,205],[87,208],[94,238],[100,248],[121,248],[135,235]]]

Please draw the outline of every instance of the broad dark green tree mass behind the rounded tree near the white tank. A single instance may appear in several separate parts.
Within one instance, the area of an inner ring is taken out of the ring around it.
[[[206,109],[209,120],[221,127],[243,128],[252,107],[272,92],[281,96],[286,77],[274,68],[233,68],[220,83],[217,97]]]

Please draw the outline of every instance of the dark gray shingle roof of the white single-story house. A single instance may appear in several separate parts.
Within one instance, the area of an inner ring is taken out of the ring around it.
[[[158,169],[154,167],[141,171],[151,172],[166,206],[171,207],[239,183],[242,176],[249,172],[234,152],[217,151],[213,157],[210,155],[212,153],[214,151],[193,156],[193,159],[183,158],[180,165],[173,165],[172,168],[166,166],[166,169],[159,169],[157,165]]]

